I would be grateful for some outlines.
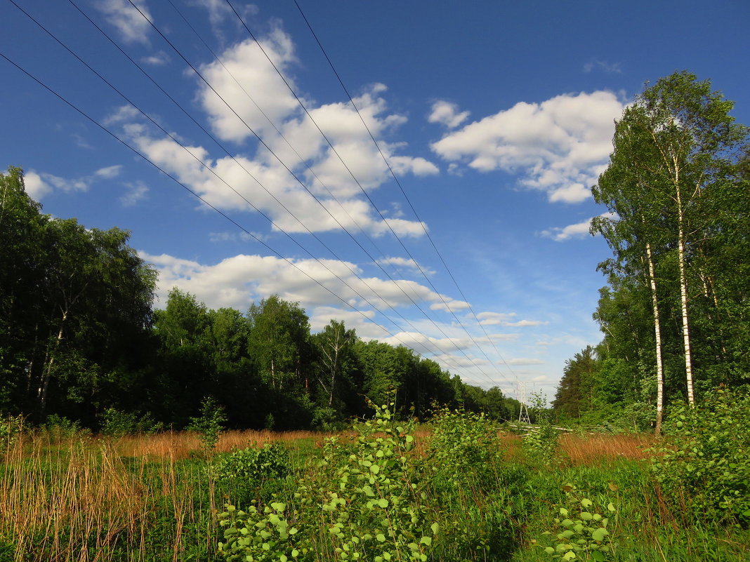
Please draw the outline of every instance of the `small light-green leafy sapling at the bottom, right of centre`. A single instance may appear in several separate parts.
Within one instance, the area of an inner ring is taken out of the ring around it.
[[[553,546],[541,548],[553,560],[611,560],[614,544],[607,525],[616,512],[614,504],[607,503],[602,515],[589,498],[580,498],[573,486],[566,485],[564,489],[566,501],[559,507],[559,517],[553,519],[555,530],[544,532],[553,537]]]

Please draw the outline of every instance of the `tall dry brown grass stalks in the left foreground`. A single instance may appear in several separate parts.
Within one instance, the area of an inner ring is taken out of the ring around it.
[[[157,512],[174,529],[163,548],[180,561],[184,526],[216,508],[211,499],[196,510],[194,501],[213,498],[212,483],[176,470],[183,440],[152,440],[142,443],[148,453],[130,459],[118,441],[46,433],[22,434],[0,451],[0,538],[16,546],[14,561],[105,562],[115,559],[115,549],[118,560],[123,553],[128,561],[151,560],[146,544]],[[155,453],[162,457],[159,469],[148,471]],[[205,537],[213,542],[216,525],[212,517],[207,521]]]

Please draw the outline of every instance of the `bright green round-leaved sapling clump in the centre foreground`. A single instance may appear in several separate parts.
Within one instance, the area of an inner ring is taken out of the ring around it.
[[[428,560],[438,526],[419,492],[424,467],[412,454],[410,424],[398,425],[386,406],[375,410],[353,443],[326,442],[317,470],[289,501],[227,507],[220,515],[227,561],[317,560],[323,549],[331,559]]]

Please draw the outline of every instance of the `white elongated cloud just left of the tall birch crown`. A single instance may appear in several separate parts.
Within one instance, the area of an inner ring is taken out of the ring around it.
[[[610,91],[520,102],[448,133],[431,148],[479,172],[517,174],[521,185],[543,190],[552,202],[581,202],[606,166],[614,119],[624,107]]]

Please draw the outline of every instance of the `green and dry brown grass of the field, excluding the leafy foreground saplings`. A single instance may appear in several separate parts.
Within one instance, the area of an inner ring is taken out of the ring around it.
[[[357,435],[343,434],[334,453],[354,455]],[[378,435],[360,443],[379,447]],[[420,545],[429,560],[552,561],[555,555],[544,547],[559,543],[556,534],[565,530],[555,519],[561,519],[561,508],[575,519],[581,501],[586,513],[601,513],[608,523],[601,554],[579,552],[579,559],[750,560],[747,530],[701,519],[665,501],[649,474],[649,436],[564,435],[551,453],[539,456],[516,435],[500,432],[469,448],[456,446],[458,456],[441,456],[429,426],[413,435],[416,447],[409,454],[422,474],[420,517],[440,529],[429,552]],[[216,450],[206,452],[199,437],[187,433],[97,438],[22,432],[0,456],[0,562],[226,560],[217,550],[224,504],[243,507],[251,498],[259,505],[304,503],[295,500],[295,492],[311,483],[322,489],[322,479],[333,474],[330,463],[315,464],[325,453],[325,438],[310,432],[226,432]],[[266,478],[251,491],[216,477],[223,453],[264,443],[288,450],[286,476]],[[317,552],[308,559],[347,559],[332,546],[326,525],[320,519],[313,541]]]

